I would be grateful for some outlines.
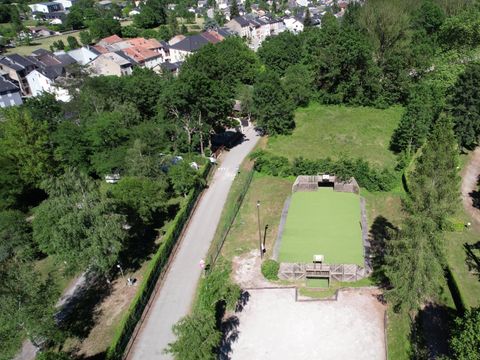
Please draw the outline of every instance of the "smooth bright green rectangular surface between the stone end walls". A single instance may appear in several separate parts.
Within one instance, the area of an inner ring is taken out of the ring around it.
[[[292,195],[279,261],[311,263],[319,254],[327,264],[363,266],[358,195],[331,188]]]

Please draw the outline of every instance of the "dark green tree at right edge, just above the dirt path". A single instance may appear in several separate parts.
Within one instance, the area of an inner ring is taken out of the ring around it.
[[[480,136],[480,63],[468,64],[450,91],[448,111],[453,116],[458,143],[467,149]]]

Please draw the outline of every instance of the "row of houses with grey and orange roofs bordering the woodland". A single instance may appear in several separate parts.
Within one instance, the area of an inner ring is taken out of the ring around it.
[[[0,57],[0,107],[19,105],[22,98],[52,93],[57,100],[68,102],[70,95],[62,87],[81,66],[91,76],[125,76],[135,66],[157,73],[177,73],[182,62],[206,44],[216,44],[232,33],[225,29],[201,34],[178,35],[168,43],[156,39],[122,39],[112,35],[96,45],[55,53],[39,49],[28,56],[11,54]]]

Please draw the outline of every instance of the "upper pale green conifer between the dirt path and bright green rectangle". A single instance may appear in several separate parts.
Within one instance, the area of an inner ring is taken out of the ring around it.
[[[445,229],[460,198],[458,145],[452,127],[449,117],[440,117],[409,176],[407,210],[432,219],[438,229]]]

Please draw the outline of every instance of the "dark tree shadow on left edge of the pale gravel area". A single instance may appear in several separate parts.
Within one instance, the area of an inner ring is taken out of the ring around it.
[[[242,291],[235,307],[235,312],[242,312],[249,300],[250,293],[248,291]],[[217,316],[218,315],[219,313],[217,312]],[[218,348],[218,358],[220,360],[228,360],[230,359],[230,354],[232,352],[232,344],[238,340],[238,337],[240,335],[240,332],[238,331],[240,320],[236,315],[231,315],[227,318],[223,317],[224,313],[222,314],[222,318],[220,319],[219,324],[219,329],[222,332],[223,336],[220,346]]]

